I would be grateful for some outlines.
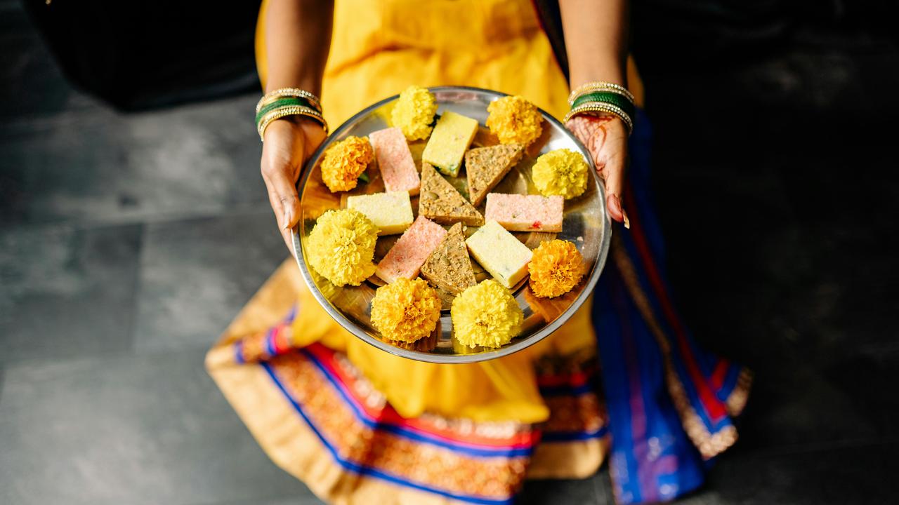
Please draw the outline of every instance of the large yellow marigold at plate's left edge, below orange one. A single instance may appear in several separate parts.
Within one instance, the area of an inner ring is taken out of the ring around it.
[[[359,286],[375,273],[378,226],[357,210],[328,210],[316,220],[306,242],[311,266],[335,286]]]

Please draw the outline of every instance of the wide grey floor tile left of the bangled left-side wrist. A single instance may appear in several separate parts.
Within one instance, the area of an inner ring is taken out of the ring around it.
[[[60,111],[0,128],[0,223],[134,222],[266,208],[255,98],[120,114]]]

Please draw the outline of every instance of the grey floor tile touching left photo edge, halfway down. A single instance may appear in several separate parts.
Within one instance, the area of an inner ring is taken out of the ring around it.
[[[0,229],[0,363],[129,350],[141,228]]]

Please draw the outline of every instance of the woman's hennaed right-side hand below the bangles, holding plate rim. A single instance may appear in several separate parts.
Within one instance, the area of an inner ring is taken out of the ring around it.
[[[597,172],[606,183],[609,216],[629,228],[628,213],[621,207],[624,170],[628,160],[628,127],[612,114],[574,116],[565,126],[587,146]]]

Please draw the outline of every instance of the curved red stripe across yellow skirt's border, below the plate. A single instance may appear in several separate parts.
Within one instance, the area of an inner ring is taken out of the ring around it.
[[[322,364],[322,366],[325,367],[330,374],[332,374],[332,376],[336,379],[336,382],[338,382],[343,388],[343,392],[347,395],[347,397],[351,398],[352,402],[356,405],[356,407],[359,408],[360,412],[364,412],[371,421],[383,422],[393,426],[405,428],[407,430],[414,430],[423,435],[434,437],[436,439],[446,440],[467,447],[480,446],[525,448],[533,447],[539,442],[539,432],[537,430],[516,433],[508,439],[485,438],[478,436],[476,433],[459,435],[449,430],[441,430],[433,426],[431,423],[422,421],[421,419],[404,418],[399,414],[399,412],[396,412],[393,406],[391,406],[389,403],[387,403],[383,409],[372,409],[355,393],[352,385],[356,382],[356,378],[344,374],[341,368],[336,366],[336,364],[334,363],[333,350],[330,350],[324,345],[317,342],[310,344],[306,348],[306,350],[310,354],[315,356],[316,359],[318,359]]]

